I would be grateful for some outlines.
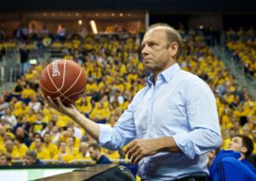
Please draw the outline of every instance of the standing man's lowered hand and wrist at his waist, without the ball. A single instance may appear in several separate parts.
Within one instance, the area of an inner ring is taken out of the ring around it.
[[[157,139],[135,139],[128,144],[125,153],[130,162],[138,163],[143,157],[154,155],[158,151]]]

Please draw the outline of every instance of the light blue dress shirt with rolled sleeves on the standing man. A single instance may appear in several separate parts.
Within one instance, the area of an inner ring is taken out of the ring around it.
[[[114,128],[100,125],[100,144],[121,149],[134,138],[172,136],[182,152],[158,152],[139,163],[147,180],[173,180],[207,173],[206,152],[220,147],[222,138],[215,97],[208,84],[182,71],[175,63],[141,89]]]

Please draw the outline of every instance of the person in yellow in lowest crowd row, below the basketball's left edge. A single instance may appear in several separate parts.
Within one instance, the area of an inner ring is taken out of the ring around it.
[[[48,149],[43,147],[44,139],[43,137],[36,137],[34,139],[34,151],[37,154],[37,158],[40,160],[49,160],[50,159],[50,153]]]

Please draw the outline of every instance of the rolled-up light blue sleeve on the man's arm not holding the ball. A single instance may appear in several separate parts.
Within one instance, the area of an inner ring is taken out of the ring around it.
[[[208,84],[197,79],[187,86],[185,108],[190,131],[173,136],[175,143],[189,158],[221,146],[222,136],[215,97]]]

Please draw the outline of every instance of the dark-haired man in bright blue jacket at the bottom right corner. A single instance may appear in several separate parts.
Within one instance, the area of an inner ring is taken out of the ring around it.
[[[236,135],[232,138],[229,150],[222,149],[217,156],[215,150],[209,155],[209,180],[256,180],[255,168],[246,160],[253,150],[248,136]]]

